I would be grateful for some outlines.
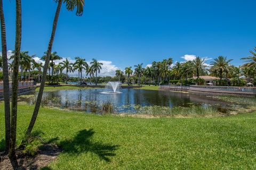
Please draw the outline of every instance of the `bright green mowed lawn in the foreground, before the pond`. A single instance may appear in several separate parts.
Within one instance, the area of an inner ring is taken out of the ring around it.
[[[18,141],[32,111],[19,105]],[[3,104],[0,112],[3,139]],[[35,130],[63,149],[45,169],[255,169],[255,122],[256,113],[147,119],[41,108]]]

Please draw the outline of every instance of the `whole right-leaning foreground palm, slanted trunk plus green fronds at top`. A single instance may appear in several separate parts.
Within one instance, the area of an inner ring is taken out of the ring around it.
[[[76,15],[78,15],[78,16],[81,16],[83,14],[83,11],[84,11],[84,0],[58,0],[58,1],[55,1],[55,2],[58,3],[58,6],[57,6],[57,10],[55,12],[55,16],[54,16],[54,20],[53,20],[53,26],[52,26],[52,33],[51,33],[50,41],[49,41],[48,48],[47,48],[46,60],[45,60],[44,71],[43,71],[43,77],[42,77],[39,92],[38,92],[38,95],[37,95],[35,109],[34,109],[32,117],[31,117],[31,121],[29,123],[26,134],[31,133],[31,131],[34,127],[34,124],[36,122],[36,117],[37,117],[37,114],[38,114],[38,111],[39,111],[39,108],[40,108],[40,105],[41,105],[43,92],[44,92],[44,84],[45,84],[45,80],[46,80],[47,69],[48,69],[48,66],[49,66],[50,59],[51,59],[52,45],[53,45],[53,41],[54,41],[54,37],[55,37],[55,31],[56,31],[56,28],[57,28],[57,23],[58,23],[58,19],[59,19],[61,5],[62,5],[62,3],[65,3],[66,8],[67,8],[68,11],[73,11],[76,8],[77,9],[76,10]]]

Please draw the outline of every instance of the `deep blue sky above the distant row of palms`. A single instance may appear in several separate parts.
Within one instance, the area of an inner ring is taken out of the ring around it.
[[[182,56],[215,58],[242,64],[256,46],[255,0],[86,0],[83,16],[62,6],[53,50],[62,57],[81,56],[116,67]],[[47,49],[57,4],[22,1],[22,50],[42,56]],[[14,49],[15,1],[4,1],[7,48]],[[207,62],[210,62],[208,60]],[[103,71],[104,72],[104,71]]]

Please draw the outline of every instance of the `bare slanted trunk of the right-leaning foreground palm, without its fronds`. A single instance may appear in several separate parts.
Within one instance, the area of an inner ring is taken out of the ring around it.
[[[45,61],[44,70],[43,70],[43,77],[42,77],[42,81],[41,81],[41,84],[40,84],[40,89],[39,89],[39,92],[38,92],[38,96],[37,96],[37,99],[36,99],[35,109],[34,109],[31,121],[29,123],[28,129],[26,131],[26,134],[31,133],[31,131],[34,127],[34,124],[36,122],[36,117],[38,115],[38,111],[39,111],[39,108],[40,108],[40,105],[41,105],[43,92],[44,92],[44,84],[45,84],[45,80],[46,80],[47,69],[48,69],[48,66],[49,66],[51,53],[52,53],[52,44],[53,44],[53,41],[54,41],[55,31],[56,31],[56,28],[57,28],[57,23],[58,23],[58,18],[59,18],[59,14],[60,14],[61,4],[62,4],[62,0],[59,0],[58,7],[57,7],[55,17],[54,17],[54,21],[53,21],[52,34],[51,34],[51,38],[50,38],[48,49],[47,49],[46,61]]]

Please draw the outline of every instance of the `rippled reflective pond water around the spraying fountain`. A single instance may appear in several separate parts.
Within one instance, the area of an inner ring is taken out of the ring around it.
[[[43,105],[70,108],[78,111],[97,112],[102,103],[112,103],[116,113],[135,113],[137,107],[215,107],[225,111],[225,103],[209,97],[181,92],[122,89],[121,94],[104,94],[108,89],[59,90],[44,92]],[[220,105],[221,104],[221,105]]]

